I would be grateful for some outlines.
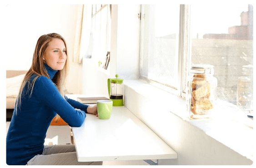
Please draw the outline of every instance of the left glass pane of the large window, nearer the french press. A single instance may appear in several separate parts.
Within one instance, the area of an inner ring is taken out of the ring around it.
[[[179,15],[178,4],[144,5],[140,76],[177,87]]]

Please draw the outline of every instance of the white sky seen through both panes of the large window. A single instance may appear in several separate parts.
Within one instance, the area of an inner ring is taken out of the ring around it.
[[[155,35],[161,37],[179,31],[179,4],[155,7]],[[228,34],[228,27],[241,24],[241,12],[248,11],[247,4],[194,4],[191,5],[191,37],[203,34]],[[176,17],[169,17],[176,16]]]

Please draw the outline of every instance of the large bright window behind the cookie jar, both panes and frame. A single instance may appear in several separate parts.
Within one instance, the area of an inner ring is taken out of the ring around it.
[[[253,110],[252,5],[142,5],[141,13],[141,79],[184,96],[190,65],[211,64],[218,99]]]

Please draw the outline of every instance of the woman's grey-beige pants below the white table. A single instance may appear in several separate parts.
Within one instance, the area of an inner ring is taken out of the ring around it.
[[[75,145],[45,145],[43,154],[31,158],[27,165],[102,165],[102,162],[78,162]]]

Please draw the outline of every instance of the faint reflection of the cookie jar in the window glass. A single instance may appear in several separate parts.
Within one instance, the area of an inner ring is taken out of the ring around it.
[[[253,65],[242,66],[242,76],[238,78],[236,104],[242,110],[253,110]]]

